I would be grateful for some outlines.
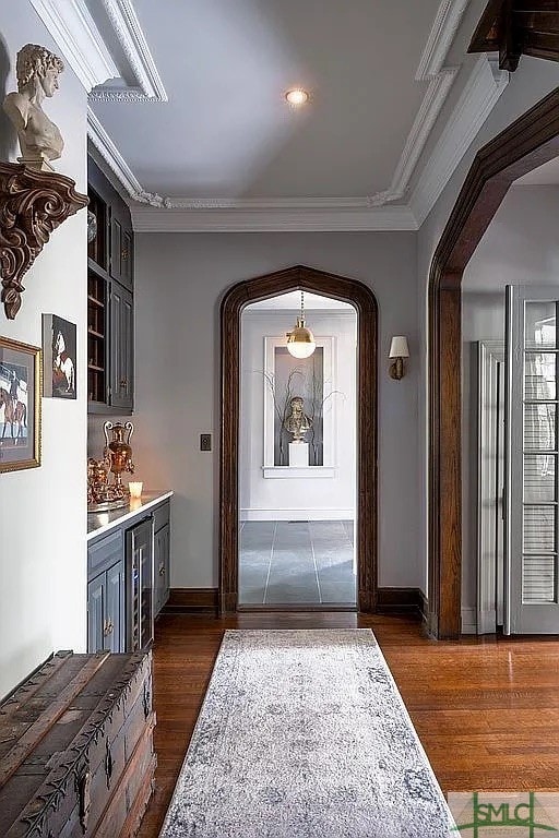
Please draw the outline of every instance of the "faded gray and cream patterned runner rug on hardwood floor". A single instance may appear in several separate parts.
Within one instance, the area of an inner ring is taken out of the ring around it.
[[[163,838],[445,838],[369,628],[228,631]]]

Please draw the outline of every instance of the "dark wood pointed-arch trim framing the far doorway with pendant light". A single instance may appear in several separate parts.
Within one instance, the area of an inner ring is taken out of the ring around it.
[[[245,306],[304,290],[357,309],[357,574],[358,608],[377,604],[377,330],[373,292],[362,283],[297,265],[234,285],[221,308],[222,426],[219,475],[219,610],[238,604],[240,315]]]

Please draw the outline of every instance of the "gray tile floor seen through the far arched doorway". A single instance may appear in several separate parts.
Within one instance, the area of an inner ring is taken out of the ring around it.
[[[355,606],[354,522],[242,522],[239,576],[241,606]]]

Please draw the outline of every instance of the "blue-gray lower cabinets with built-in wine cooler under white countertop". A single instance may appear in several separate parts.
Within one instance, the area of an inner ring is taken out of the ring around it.
[[[170,504],[139,513],[87,550],[87,651],[135,651],[153,641],[169,597]]]

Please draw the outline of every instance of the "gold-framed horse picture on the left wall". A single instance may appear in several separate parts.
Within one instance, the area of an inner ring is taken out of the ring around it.
[[[0,337],[0,471],[40,466],[40,349]]]

